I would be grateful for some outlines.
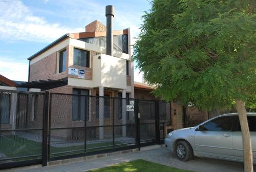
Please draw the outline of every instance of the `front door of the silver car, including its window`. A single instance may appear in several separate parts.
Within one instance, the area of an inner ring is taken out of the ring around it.
[[[234,116],[214,118],[202,124],[195,134],[198,155],[233,159],[232,134]]]

